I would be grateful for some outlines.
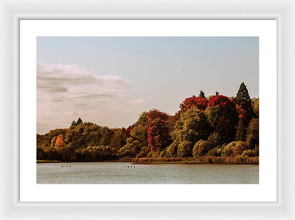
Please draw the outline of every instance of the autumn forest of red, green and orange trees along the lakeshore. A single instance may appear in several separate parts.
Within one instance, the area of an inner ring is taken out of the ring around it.
[[[241,83],[236,96],[206,96],[201,90],[185,98],[175,115],[151,109],[127,128],[79,118],[36,136],[37,161],[258,163],[259,97],[250,98]]]

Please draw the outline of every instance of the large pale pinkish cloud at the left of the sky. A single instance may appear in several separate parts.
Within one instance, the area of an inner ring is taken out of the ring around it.
[[[38,100],[105,103],[102,98],[121,96],[128,85],[130,82],[119,76],[96,75],[74,64],[37,62]]]

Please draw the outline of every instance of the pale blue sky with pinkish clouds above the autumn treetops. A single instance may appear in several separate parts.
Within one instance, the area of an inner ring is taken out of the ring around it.
[[[259,96],[259,37],[37,37],[37,133],[81,117],[128,127],[187,97]]]

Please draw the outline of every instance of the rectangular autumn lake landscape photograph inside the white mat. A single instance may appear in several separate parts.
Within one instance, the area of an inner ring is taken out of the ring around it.
[[[36,184],[259,184],[259,36],[37,36],[36,108]]]

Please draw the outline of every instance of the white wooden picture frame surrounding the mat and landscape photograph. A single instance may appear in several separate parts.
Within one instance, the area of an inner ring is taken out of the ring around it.
[[[295,219],[295,0],[0,0],[0,219]],[[20,202],[20,19],[276,19],[277,202]]]

